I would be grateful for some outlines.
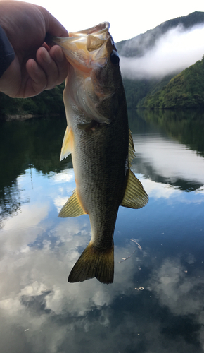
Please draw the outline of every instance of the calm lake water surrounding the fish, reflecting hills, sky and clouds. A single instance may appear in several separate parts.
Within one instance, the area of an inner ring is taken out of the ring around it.
[[[0,352],[204,352],[204,114],[129,121],[149,202],[120,207],[112,285],[67,282],[91,234],[87,215],[58,218],[65,118],[1,124]]]

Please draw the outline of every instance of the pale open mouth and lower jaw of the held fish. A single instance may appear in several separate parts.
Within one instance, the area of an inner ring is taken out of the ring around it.
[[[52,40],[63,48],[63,52],[72,66],[90,73],[94,66],[103,67],[108,59],[106,42],[111,36],[108,22],[81,30],[69,32],[69,37],[53,37]]]

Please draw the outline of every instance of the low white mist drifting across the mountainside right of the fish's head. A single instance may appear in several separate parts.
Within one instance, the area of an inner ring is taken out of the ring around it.
[[[204,55],[204,26],[191,30],[179,25],[162,35],[152,49],[139,58],[120,56],[123,78],[162,78],[179,73]]]

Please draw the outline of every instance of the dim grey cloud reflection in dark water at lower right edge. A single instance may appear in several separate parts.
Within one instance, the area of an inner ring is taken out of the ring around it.
[[[189,264],[188,254],[186,263]],[[193,260],[195,262],[195,260]],[[203,309],[202,290],[200,296],[196,295],[196,287],[203,288],[204,277],[188,274],[186,267],[181,264],[180,258],[166,258],[158,269],[153,270],[151,282],[148,287],[155,292],[162,306],[170,308],[174,315],[196,314],[200,316]]]

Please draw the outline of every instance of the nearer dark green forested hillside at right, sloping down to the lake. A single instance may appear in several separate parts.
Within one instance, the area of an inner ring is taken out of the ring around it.
[[[138,107],[146,109],[189,109],[204,107],[204,56],[186,68],[165,87],[146,96]]]

